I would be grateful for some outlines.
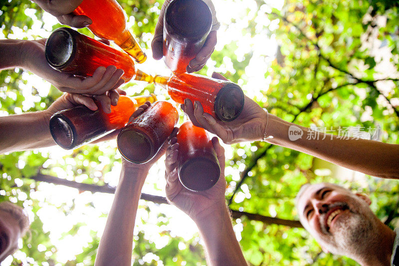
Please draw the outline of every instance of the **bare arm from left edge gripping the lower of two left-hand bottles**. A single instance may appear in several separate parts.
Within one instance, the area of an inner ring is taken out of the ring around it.
[[[118,91],[125,94],[122,90],[118,89]],[[108,96],[99,95],[96,96],[96,99],[105,112],[110,112]],[[81,104],[91,110],[98,108],[94,100],[88,96],[65,93],[55,100],[47,110],[0,117],[0,153],[55,145],[49,129],[50,117],[58,111]],[[103,140],[105,140],[105,137],[103,137]]]

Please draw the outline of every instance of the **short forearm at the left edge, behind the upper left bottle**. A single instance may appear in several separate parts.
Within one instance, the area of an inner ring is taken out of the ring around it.
[[[0,40],[0,70],[21,66],[23,40]]]

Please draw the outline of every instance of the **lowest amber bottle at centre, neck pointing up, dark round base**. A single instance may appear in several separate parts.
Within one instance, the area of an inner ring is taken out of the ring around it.
[[[178,176],[182,185],[192,191],[213,187],[219,180],[220,166],[210,137],[205,130],[187,121],[180,126]]]

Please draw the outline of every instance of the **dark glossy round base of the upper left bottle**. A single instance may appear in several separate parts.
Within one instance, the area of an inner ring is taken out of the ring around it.
[[[51,67],[62,69],[73,59],[75,54],[74,34],[76,33],[73,29],[62,27],[53,31],[48,37],[44,54]]]

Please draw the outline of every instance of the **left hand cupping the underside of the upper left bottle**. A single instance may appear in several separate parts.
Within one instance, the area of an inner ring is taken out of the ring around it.
[[[101,95],[106,91],[114,90],[124,83],[121,79],[122,69],[111,65],[105,68],[100,66],[93,76],[86,78],[76,77],[53,69],[46,61],[44,45],[46,39],[26,40],[22,42],[21,67],[44,78],[57,89],[68,93]]]

